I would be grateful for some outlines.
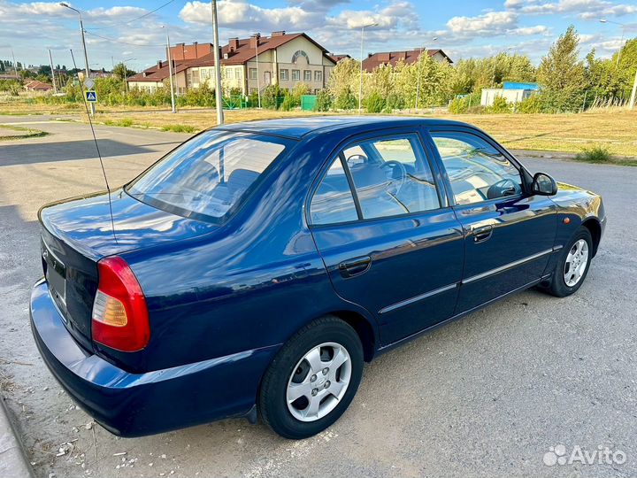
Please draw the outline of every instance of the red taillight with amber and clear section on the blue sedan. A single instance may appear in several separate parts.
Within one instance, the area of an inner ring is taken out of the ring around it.
[[[150,339],[146,299],[123,258],[97,263],[99,286],[93,303],[93,340],[118,351],[141,351]]]

